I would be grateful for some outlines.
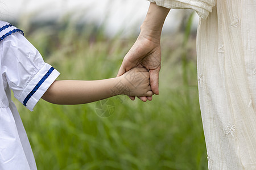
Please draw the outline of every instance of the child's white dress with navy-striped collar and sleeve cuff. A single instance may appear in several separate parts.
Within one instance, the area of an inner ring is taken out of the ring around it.
[[[14,96],[30,111],[59,75],[13,25],[0,21],[0,169],[36,169]]]

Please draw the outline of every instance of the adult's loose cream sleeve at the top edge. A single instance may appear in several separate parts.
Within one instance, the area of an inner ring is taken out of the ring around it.
[[[216,0],[148,0],[156,3],[158,6],[166,8],[189,8],[195,10],[197,14],[205,19],[212,12],[212,7],[215,6]]]

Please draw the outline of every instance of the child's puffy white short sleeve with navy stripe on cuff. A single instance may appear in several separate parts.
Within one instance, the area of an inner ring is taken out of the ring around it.
[[[14,97],[32,111],[60,73],[43,61],[38,50],[21,33],[6,37],[1,48],[3,78]]]

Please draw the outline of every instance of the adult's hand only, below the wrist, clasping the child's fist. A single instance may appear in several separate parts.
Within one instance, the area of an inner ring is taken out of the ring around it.
[[[123,58],[122,65],[118,71],[118,76],[129,71],[133,67],[146,67],[150,74],[151,91],[158,95],[158,79],[161,68],[161,48],[160,39],[148,37],[147,35],[139,35],[133,47]],[[130,96],[132,100],[135,97]],[[151,97],[139,97],[142,101],[152,100]]]

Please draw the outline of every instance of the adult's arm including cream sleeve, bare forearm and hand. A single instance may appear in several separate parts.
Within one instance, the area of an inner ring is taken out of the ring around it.
[[[150,7],[146,19],[141,25],[137,41],[126,54],[119,69],[118,76],[133,67],[144,66],[150,70],[151,90],[159,94],[158,78],[161,62],[160,36],[164,20],[170,8],[191,8],[203,19],[207,18],[216,0],[148,0]],[[134,97],[130,97],[134,100]],[[140,97],[141,100],[152,100],[152,97]]]

